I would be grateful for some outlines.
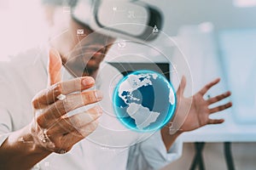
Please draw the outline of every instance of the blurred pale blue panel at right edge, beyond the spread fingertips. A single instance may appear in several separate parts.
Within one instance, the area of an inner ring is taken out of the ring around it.
[[[256,30],[220,31],[219,47],[236,121],[256,123]]]

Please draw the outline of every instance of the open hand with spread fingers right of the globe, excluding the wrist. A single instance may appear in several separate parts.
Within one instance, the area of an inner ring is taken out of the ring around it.
[[[224,111],[232,106],[231,102],[228,102],[224,105],[219,105],[212,109],[209,108],[210,105],[221,101],[222,99],[226,99],[230,96],[230,92],[226,92],[224,94],[220,94],[210,99],[204,99],[204,95],[207,94],[207,91],[216,85],[220,79],[216,79],[212,82],[209,82],[204,88],[202,88],[198,93],[193,95],[190,98],[185,98],[183,96],[184,89],[186,87],[186,79],[185,77],[182,78],[180,86],[177,90],[177,116],[179,117],[178,121],[183,121],[182,126],[179,128],[181,132],[188,132],[195,130],[199,127],[203,127],[207,124],[219,124],[224,122],[224,119],[210,119],[209,116],[213,113],[218,111]],[[190,104],[189,112],[187,114],[180,113],[179,111],[183,111],[182,108],[188,107]],[[181,109],[178,109],[181,108]]]

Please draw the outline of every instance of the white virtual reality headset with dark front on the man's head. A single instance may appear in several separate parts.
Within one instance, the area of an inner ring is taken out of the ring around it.
[[[109,37],[153,41],[163,27],[160,9],[128,0],[79,0],[72,16],[93,31]]]

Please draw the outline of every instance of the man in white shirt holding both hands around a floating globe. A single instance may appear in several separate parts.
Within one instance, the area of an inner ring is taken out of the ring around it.
[[[86,35],[82,41],[76,35],[80,28]],[[52,39],[52,48],[36,48],[1,65],[0,169],[158,169],[177,159],[175,140],[181,133],[224,122],[208,116],[229,108],[231,103],[212,109],[208,106],[227,98],[230,92],[203,99],[219,79],[191,98],[184,98],[183,77],[177,90],[176,115],[188,107],[189,113],[177,133],[170,134],[166,125],[136,143],[137,137],[131,132],[131,147],[114,149],[91,141],[90,133],[99,131],[99,120],[106,120],[104,108],[95,105],[69,113],[103,99],[102,92],[92,87],[113,42],[113,37],[69,18],[68,30]],[[104,81],[102,86],[106,86]],[[119,127],[117,120],[113,122]],[[115,141],[125,136],[112,137]]]

